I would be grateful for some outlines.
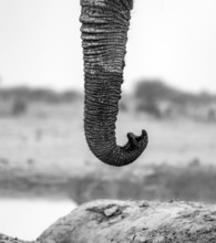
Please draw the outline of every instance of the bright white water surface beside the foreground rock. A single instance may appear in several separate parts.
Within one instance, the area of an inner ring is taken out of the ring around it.
[[[75,207],[71,200],[0,199],[0,232],[21,240],[35,240]]]

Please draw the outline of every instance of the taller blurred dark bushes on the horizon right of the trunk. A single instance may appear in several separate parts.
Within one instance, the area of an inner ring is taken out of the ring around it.
[[[156,118],[181,115],[199,120],[216,120],[216,95],[179,91],[160,80],[140,81],[133,95],[135,110]]]

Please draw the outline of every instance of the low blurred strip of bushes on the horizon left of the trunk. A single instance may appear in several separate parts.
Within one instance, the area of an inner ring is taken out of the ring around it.
[[[49,88],[30,88],[25,86],[1,88],[0,117],[17,117],[27,115],[28,112],[40,117],[47,117],[51,114],[61,114],[61,110],[64,112],[66,104],[70,104],[70,107],[79,108],[80,106],[75,106],[74,103],[79,102],[81,104],[81,101],[83,101],[83,95],[76,91],[58,93]],[[51,107],[54,108],[53,112]]]

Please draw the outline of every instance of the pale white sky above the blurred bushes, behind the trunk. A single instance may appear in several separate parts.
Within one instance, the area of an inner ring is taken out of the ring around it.
[[[80,0],[0,0],[0,85],[83,89]],[[216,93],[216,1],[135,0],[123,89]]]

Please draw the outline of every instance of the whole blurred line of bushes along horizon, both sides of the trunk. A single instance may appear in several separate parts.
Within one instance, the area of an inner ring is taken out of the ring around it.
[[[80,104],[79,106],[74,105],[76,102]],[[76,91],[54,92],[49,88],[27,86],[0,89],[1,117],[23,115],[27,110],[32,110],[31,105],[39,105],[40,109],[40,105],[44,104],[50,107],[63,105],[59,106],[62,110],[65,108],[65,104],[69,106],[73,104],[73,107],[81,110],[83,94]],[[160,80],[141,80],[132,95],[123,95],[119,106],[120,112],[145,113],[157,119],[184,116],[202,122],[216,122],[216,95],[179,91]],[[41,108],[43,107],[41,106]]]

